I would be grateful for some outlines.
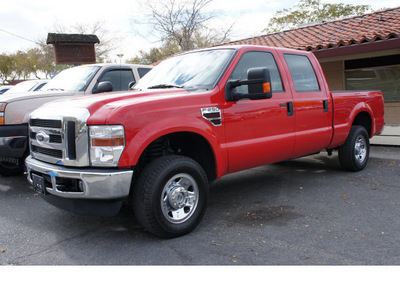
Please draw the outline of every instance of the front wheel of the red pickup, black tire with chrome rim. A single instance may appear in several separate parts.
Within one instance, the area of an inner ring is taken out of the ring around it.
[[[168,155],[145,167],[133,183],[133,209],[142,227],[161,238],[191,232],[208,199],[208,180],[193,159]]]

